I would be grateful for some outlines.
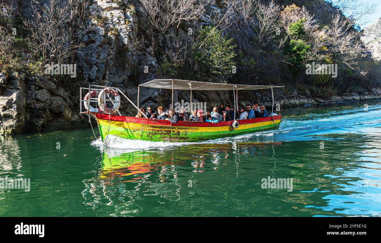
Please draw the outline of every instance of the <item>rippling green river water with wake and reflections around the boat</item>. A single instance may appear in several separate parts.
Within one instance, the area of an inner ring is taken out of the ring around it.
[[[380,216],[381,102],[364,104],[284,110],[277,130],[205,142],[0,136],[0,179],[31,183],[0,189],[0,216]],[[293,190],[262,189],[268,176]]]

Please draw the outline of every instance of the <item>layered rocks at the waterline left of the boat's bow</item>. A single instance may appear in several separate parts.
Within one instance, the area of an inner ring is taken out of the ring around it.
[[[47,77],[8,77],[0,84],[0,134],[53,131],[87,126],[72,115],[76,99]]]

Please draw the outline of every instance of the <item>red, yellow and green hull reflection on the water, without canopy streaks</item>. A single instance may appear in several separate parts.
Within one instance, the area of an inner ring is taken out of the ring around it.
[[[229,157],[234,157],[234,161],[238,161],[240,155],[253,154],[255,156],[274,156],[263,153],[264,149],[272,149],[274,146],[282,145],[282,142],[240,142],[233,144],[202,144],[202,145],[187,145],[185,152],[172,152],[146,150],[134,151],[128,153],[103,151],[101,161],[101,179],[107,180],[112,184],[113,178],[125,178],[123,182],[133,182],[142,179],[146,173],[153,171],[167,171],[169,168],[173,170],[176,166],[191,165],[193,172],[205,172],[202,169],[205,163],[210,162],[216,165],[214,169],[218,169],[218,165],[223,164]],[[259,151],[261,150],[261,151]],[[274,150],[271,150],[274,152]],[[181,157],[179,157],[181,155]],[[185,161],[185,162],[184,162]],[[189,161],[190,163],[187,163]],[[131,177],[133,175],[140,175]]]

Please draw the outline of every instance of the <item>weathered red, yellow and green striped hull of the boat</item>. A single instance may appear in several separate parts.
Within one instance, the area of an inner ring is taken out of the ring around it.
[[[145,141],[192,142],[231,137],[278,128],[281,116],[263,117],[239,121],[238,128],[232,128],[232,121],[218,123],[200,121],[179,121],[125,117],[108,114],[94,114],[102,138],[112,134],[126,139]]]

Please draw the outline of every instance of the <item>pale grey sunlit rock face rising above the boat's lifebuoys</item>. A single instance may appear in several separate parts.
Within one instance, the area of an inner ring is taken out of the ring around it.
[[[97,18],[89,19],[89,31],[80,35],[85,46],[78,49],[77,67],[89,82],[121,85],[131,74],[138,29],[134,9],[109,0],[94,1],[90,9]]]

